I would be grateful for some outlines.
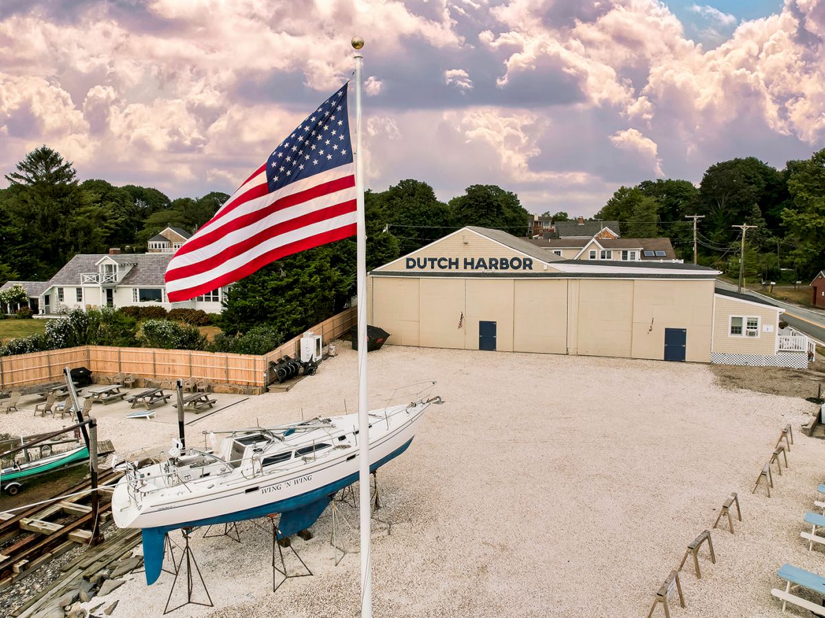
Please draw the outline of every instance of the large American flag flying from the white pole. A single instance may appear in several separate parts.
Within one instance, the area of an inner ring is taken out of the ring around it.
[[[286,255],[356,233],[347,84],[271,152],[169,261],[166,291],[186,301]]]

